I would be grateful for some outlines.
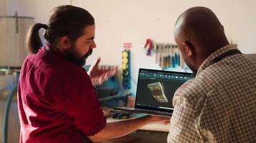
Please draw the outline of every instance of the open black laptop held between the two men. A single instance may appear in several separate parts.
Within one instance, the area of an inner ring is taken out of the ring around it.
[[[184,82],[192,79],[191,73],[139,69],[135,107],[115,107],[116,110],[171,117],[173,95]]]

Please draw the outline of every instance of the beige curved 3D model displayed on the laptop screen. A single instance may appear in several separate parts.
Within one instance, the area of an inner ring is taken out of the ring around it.
[[[165,92],[163,89],[163,84],[161,82],[154,82],[147,84],[147,88],[150,89],[152,96],[157,99],[157,102],[167,103],[168,99],[165,97]]]

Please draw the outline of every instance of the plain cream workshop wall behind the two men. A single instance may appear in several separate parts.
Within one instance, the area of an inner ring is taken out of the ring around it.
[[[3,0],[1,0],[3,1]],[[255,53],[255,0],[9,0],[7,15],[15,11],[21,16],[33,16],[46,23],[55,6],[73,4],[87,9],[96,19],[97,48],[88,59],[91,64],[101,56],[102,64],[121,67],[123,43],[132,43],[132,78],[137,81],[140,67],[160,69],[155,57],[146,56],[143,46],[147,38],[157,42],[174,42],[175,20],[192,6],[207,6],[219,17],[229,41],[238,44],[244,53]],[[132,85],[134,92],[136,87]]]

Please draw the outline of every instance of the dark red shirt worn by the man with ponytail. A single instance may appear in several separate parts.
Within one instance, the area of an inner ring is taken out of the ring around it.
[[[18,85],[20,142],[83,142],[106,125],[91,79],[42,47],[24,60]]]

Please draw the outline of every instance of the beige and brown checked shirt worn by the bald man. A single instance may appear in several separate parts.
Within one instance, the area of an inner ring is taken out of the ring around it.
[[[173,98],[170,142],[256,142],[256,54],[224,46],[198,68]]]

